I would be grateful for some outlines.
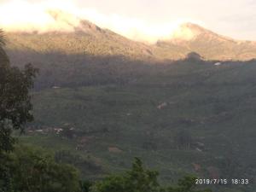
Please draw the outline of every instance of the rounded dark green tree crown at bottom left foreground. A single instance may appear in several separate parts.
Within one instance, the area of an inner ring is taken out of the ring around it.
[[[10,157],[14,191],[79,191],[79,172],[73,166],[55,162],[54,155],[41,148],[15,146]]]

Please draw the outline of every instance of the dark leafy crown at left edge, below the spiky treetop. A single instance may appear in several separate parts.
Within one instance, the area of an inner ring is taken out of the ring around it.
[[[11,130],[22,131],[22,125],[33,119],[29,90],[36,73],[37,69],[32,65],[20,70],[10,67],[9,63],[0,63],[0,153],[12,148]]]

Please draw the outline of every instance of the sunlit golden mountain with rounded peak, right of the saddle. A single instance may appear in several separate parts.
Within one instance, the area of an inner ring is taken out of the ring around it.
[[[201,26],[185,23],[179,26],[169,40],[159,40],[157,52],[163,58],[172,57],[173,51],[181,57],[195,51],[207,60],[240,60],[256,58],[256,43],[238,41],[218,35]]]

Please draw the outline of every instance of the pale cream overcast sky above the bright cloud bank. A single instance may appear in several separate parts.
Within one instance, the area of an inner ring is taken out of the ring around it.
[[[12,0],[0,0],[8,3]],[[42,0],[26,0],[30,3]],[[64,1],[64,0],[63,0]],[[79,9],[143,20],[148,26],[195,20],[225,36],[256,40],[256,0],[73,0]],[[5,18],[8,20],[8,18]],[[124,21],[125,22],[125,21]],[[125,23],[123,23],[125,25]]]

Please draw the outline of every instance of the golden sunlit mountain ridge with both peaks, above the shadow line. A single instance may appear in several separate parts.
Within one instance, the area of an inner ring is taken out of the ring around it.
[[[147,62],[178,60],[192,51],[206,60],[246,61],[256,58],[255,42],[227,38],[193,23],[184,23],[169,38],[160,39],[156,44],[144,44],[61,10],[50,10],[48,14],[55,20],[55,27],[51,26],[53,29],[49,32],[7,33],[6,49],[14,63],[42,61],[38,55],[45,58],[45,54],[52,53],[86,57],[120,56],[121,61]],[[24,56],[27,54],[29,56]],[[60,61],[63,62],[63,59]]]

